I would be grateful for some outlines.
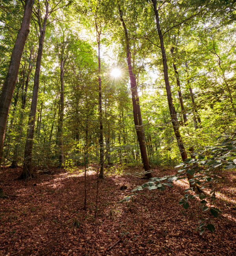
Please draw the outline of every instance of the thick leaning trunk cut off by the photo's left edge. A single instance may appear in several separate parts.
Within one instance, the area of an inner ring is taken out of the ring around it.
[[[30,32],[30,20],[32,14],[34,0],[26,0],[24,8],[24,16],[22,19],[21,27],[17,35],[15,46],[11,54],[11,61],[7,72],[5,83],[2,87],[0,95],[0,167],[2,161],[2,150],[4,145],[7,116],[11,106],[13,91],[17,80],[20,60],[26,43],[26,39]]]

